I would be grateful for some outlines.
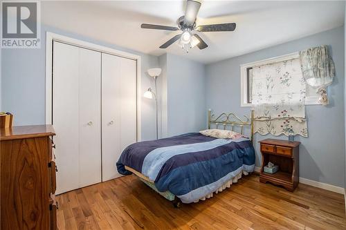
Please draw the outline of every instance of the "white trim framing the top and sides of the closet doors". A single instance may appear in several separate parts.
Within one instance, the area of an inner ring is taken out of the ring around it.
[[[140,56],[134,55],[129,52],[124,52],[121,50],[116,50],[106,46],[99,46],[96,44],[89,43],[87,41],[82,41],[79,39],[73,39],[71,37],[66,37],[64,35],[58,35],[53,32],[46,32],[46,124],[52,124],[52,55],[53,55],[53,41],[60,41],[65,44],[70,44],[73,46],[79,46],[82,48],[88,48],[90,50],[95,50],[99,52],[108,53],[110,55],[116,55],[119,57],[125,57],[128,59],[133,59],[137,63],[137,141],[141,140],[141,97],[140,97]]]

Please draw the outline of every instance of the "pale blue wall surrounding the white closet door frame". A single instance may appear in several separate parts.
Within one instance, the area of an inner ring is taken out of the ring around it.
[[[42,26],[41,48],[1,49],[1,111],[13,113],[15,125],[45,124],[46,31],[140,55],[141,95],[153,86],[152,77],[147,75],[146,70],[158,66],[158,57]],[[155,139],[154,109],[152,101],[142,99],[142,140]]]

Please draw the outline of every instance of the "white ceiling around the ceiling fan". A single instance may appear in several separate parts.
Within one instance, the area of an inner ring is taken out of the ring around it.
[[[179,31],[145,30],[140,23],[176,26],[185,1],[43,1],[42,23],[151,55],[170,52],[203,63],[235,57],[343,25],[344,1],[203,1],[197,25],[235,22],[234,32],[203,32],[209,45],[188,54],[178,43],[158,48]]]

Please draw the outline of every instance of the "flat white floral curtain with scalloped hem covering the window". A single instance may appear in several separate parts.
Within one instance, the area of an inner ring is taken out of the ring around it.
[[[298,58],[254,67],[255,132],[307,137],[305,90]]]

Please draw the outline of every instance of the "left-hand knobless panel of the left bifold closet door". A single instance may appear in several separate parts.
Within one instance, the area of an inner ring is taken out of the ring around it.
[[[53,45],[53,126],[57,172],[57,191],[79,186],[79,48],[58,42]],[[77,77],[76,77],[77,76]]]

